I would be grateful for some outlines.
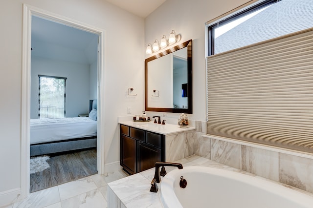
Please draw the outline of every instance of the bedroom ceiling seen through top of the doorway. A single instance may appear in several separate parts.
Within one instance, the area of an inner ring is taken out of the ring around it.
[[[97,59],[98,36],[33,16],[31,47],[32,56],[92,64]]]

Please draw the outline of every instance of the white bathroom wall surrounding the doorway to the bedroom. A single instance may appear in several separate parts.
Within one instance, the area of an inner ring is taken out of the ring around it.
[[[105,163],[119,161],[117,116],[144,108],[144,20],[104,0],[0,1],[0,196],[21,187],[22,3],[105,30]],[[134,87],[135,98],[126,97]],[[5,170],[5,171],[3,171]],[[17,196],[17,195],[16,195]],[[6,203],[0,201],[0,205]]]

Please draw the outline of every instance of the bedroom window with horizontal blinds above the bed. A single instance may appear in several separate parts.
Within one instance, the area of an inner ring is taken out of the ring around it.
[[[38,75],[38,118],[66,117],[67,78]]]

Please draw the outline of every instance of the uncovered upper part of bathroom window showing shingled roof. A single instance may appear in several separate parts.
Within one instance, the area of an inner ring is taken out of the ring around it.
[[[208,22],[208,55],[218,54],[313,27],[307,0],[263,0],[229,17]]]

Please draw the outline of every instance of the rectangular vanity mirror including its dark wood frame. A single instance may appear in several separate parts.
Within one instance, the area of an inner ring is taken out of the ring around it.
[[[145,110],[192,113],[192,40],[145,60]]]

